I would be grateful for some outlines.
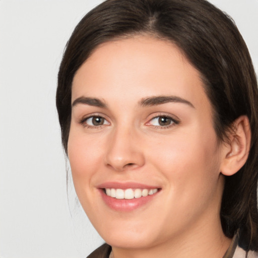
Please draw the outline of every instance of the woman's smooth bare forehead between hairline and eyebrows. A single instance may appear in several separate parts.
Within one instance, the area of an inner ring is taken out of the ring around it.
[[[98,46],[77,71],[72,87],[72,101],[81,96],[138,101],[153,95],[176,95],[196,104],[208,101],[199,72],[181,50],[147,36]]]

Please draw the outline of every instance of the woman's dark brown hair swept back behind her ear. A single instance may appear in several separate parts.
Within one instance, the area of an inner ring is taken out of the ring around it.
[[[151,35],[169,40],[201,75],[213,107],[219,142],[227,140],[234,120],[246,115],[251,146],[245,165],[225,176],[221,204],[224,234],[239,229],[245,250],[258,251],[258,90],[246,44],[233,20],[205,0],[107,0],[77,25],[60,64],[56,106],[67,153],[71,122],[72,82],[76,71],[100,44],[121,37]]]

